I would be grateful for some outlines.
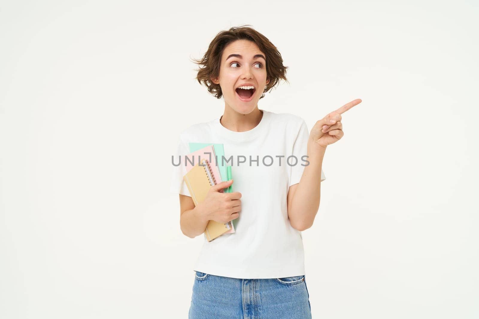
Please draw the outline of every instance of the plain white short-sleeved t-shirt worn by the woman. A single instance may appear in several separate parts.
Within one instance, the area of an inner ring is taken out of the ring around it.
[[[308,164],[304,156],[308,128],[296,115],[262,112],[260,123],[250,131],[230,131],[218,117],[180,134],[174,163],[178,164],[179,155],[184,159],[191,153],[189,143],[223,143],[225,159],[233,156],[226,164],[232,166],[233,191],[241,193],[236,232],[211,242],[205,238],[195,271],[243,279],[305,275],[302,236],[289,222],[286,199]],[[288,159],[290,155],[297,161]],[[183,181],[184,161],[172,167],[171,192],[190,196]],[[326,179],[322,171],[320,178]]]

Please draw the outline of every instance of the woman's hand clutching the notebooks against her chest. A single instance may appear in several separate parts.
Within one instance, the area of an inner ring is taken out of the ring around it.
[[[204,212],[207,220],[215,220],[225,224],[239,217],[239,211],[241,210],[241,200],[239,198],[241,198],[241,193],[220,192],[231,184],[233,184],[232,179],[212,186],[206,194],[205,201],[198,205],[201,207],[201,211]]]

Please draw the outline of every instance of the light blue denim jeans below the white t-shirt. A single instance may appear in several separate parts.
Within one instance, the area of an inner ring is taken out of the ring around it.
[[[305,276],[237,279],[197,271],[188,318],[311,318]]]

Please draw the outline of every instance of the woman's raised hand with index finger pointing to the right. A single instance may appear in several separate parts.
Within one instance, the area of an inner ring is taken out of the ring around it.
[[[319,147],[324,148],[341,140],[344,135],[344,132],[342,132],[341,114],[361,102],[361,99],[355,99],[317,121],[309,133],[310,139]]]

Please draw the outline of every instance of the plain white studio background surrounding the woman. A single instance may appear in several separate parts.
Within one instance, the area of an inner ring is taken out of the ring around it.
[[[260,109],[344,103],[303,232],[313,318],[478,318],[475,1],[2,1],[0,317],[186,318],[203,236],[169,192],[195,80],[250,24],[289,66]]]

